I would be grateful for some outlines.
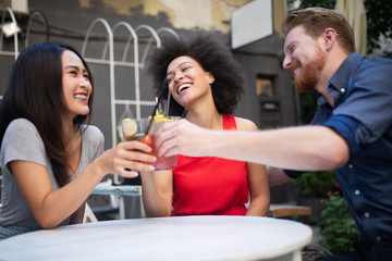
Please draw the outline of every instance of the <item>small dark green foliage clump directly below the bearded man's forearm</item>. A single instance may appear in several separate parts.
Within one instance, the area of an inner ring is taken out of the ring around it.
[[[298,195],[303,197],[326,199],[328,192],[339,189],[333,171],[304,173],[292,182]]]

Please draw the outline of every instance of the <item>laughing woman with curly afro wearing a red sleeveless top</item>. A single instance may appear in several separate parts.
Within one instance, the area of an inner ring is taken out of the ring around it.
[[[210,35],[162,38],[148,69],[155,86],[167,80],[171,115],[210,129],[257,129],[232,115],[243,92],[241,66]],[[269,209],[266,167],[250,162],[177,156],[174,170],[143,172],[142,183],[148,216],[266,215]]]

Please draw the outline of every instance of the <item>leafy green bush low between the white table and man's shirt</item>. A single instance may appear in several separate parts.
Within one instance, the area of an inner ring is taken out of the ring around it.
[[[331,192],[329,198],[323,201],[326,209],[321,212],[321,220],[318,224],[322,234],[319,244],[332,253],[354,250],[352,241],[359,237],[359,232],[347,202],[339,191]]]

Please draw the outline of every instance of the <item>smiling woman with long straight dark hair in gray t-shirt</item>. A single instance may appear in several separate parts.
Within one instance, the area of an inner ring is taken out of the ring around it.
[[[149,151],[142,142],[102,152],[102,133],[88,125],[93,95],[91,73],[72,47],[39,44],[19,55],[0,103],[0,239],[81,223],[106,174],[151,170],[137,161],[152,157],[128,151]]]

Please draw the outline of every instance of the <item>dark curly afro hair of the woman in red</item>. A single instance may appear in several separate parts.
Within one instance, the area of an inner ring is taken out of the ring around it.
[[[193,58],[206,72],[213,75],[211,88],[217,110],[219,113],[233,114],[244,91],[242,69],[230,50],[211,35],[197,34],[188,41],[174,35],[162,37],[161,47],[156,48],[148,60],[148,71],[154,76],[154,86],[161,86],[169,64],[183,55]],[[170,114],[182,115],[183,112],[184,108],[171,98]]]

